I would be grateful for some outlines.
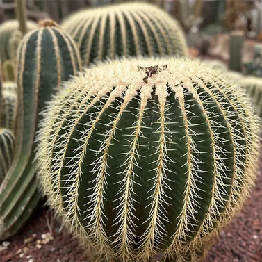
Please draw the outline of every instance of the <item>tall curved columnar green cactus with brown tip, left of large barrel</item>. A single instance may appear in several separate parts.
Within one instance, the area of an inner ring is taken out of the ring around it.
[[[15,234],[38,204],[35,133],[39,113],[62,81],[81,69],[79,53],[67,33],[51,20],[25,35],[17,54],[19,112],[15,158],[0,187],[0,238]]]

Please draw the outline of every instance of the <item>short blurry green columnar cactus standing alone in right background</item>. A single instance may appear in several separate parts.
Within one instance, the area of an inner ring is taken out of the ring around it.
[[[229,69],[242,71],[242,49],[244,44],[242,31],[233,31],[229,40]]]

